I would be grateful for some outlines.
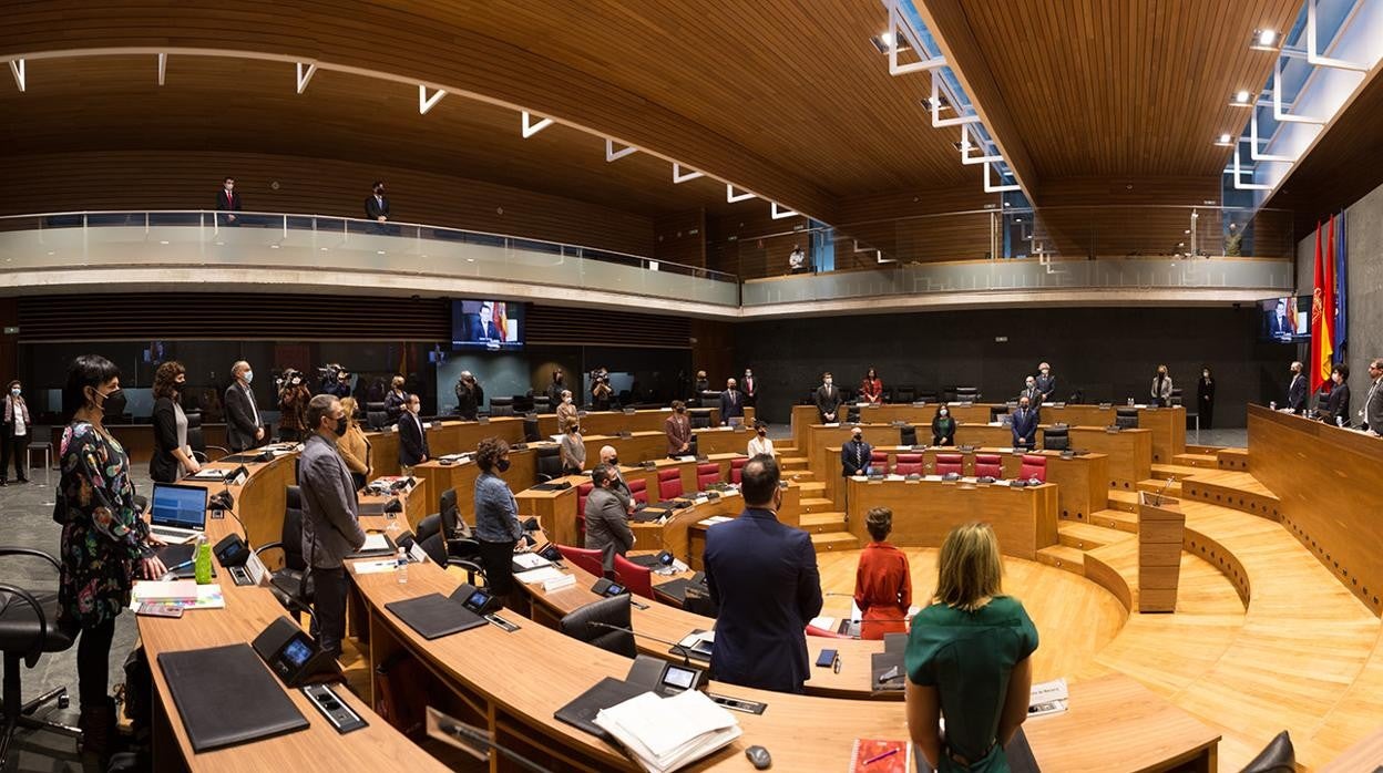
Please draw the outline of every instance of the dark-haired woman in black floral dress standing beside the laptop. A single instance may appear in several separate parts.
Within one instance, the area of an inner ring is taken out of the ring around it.
[[[77,357],[68,368],[62,400],[73,413],[62,430],[62,477],[53,512],[62,524],[58,624],[79,632],[82,751],[104,759],[115,740],[108,694],[115,618],[130,606],[136,577],[156,579],[165,568],[154,555],[159,541],[134,505],[124,448],[102,425],[105,416],[124,412],[119,368],[104,357]]]

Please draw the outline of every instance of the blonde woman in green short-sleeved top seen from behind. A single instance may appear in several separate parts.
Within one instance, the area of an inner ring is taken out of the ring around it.
[[[1037,629],[1018,599],[1003,595],[1001,571],[989,524],[946,535],[936,595],[913,618],[904,654],[907,727],[922,770],[1008,770],[1004,745],[1028,718]]]

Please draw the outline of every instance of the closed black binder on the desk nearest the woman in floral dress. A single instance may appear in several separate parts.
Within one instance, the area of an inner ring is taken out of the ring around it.
[[[158,660],[195,752],[307,727],[249,644],[159,653]]]

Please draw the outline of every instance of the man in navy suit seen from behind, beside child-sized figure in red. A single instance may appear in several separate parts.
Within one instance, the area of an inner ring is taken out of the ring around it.
[[[770,456],[750,459],[741,473],[744,512],[705,532],[705,579],[721,610],[711,678],[801,693],[812,665],[805,628],[822,614],[822,582],[812,538],[777,520],[779,477]]]

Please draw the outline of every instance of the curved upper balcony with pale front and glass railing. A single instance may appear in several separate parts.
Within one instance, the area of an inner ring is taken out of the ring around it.
[[[1285,231],[1282,221],[1286,223]],[[225,290],[495,296],[709,318],[978,306],[1252,301],[1290,292],[1290,213],[983,210],[744,239],[722,267],[503,234],[285,213],[0,217],[0,292]],[[795,243],[810,266],[788,275]],[[743,278],[743,279],[741,279]]]

